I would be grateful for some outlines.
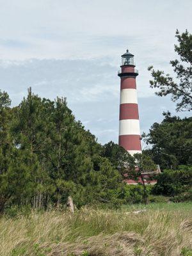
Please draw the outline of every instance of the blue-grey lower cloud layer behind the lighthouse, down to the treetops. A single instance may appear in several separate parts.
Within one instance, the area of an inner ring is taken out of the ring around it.
[[[13,106],[29,86],[45,98],[67,97],[77,120],[82,120],[99,142],[117,142],[120,79],[110,63],[109,58],[1,61],[0,88],[10,94]],[[137,84],[141,131],[148,131],[154,122],[161,122],[163,111],[173,112],[175,105],[167,97],[154,96],[146,77]]]

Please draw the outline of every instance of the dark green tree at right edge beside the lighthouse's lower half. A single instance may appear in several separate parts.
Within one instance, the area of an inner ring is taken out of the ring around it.
[[[149,133],[143,134],[147,145],[152,145],[145,153],[151,156],[161,169],[175,169],[180,164],[190,164],[192,119],[171,116],[169,112],[163,115],[161,124],[154,123]]]

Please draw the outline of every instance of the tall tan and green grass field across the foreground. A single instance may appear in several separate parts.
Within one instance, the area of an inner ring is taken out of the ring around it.
[[[191,256],[191,249],[191,203],[0,218],[1,256]]]

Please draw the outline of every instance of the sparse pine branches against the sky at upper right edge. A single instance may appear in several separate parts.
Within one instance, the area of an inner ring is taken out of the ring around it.
[[[164,71],[151,70],[153,80],[150,80],[150,87],[159,89],[158,96],[171,95],[173,102],[177,102],[177,111],[190,111],[192,109],[192,35],[186,30],[180,35],[176,31],[179,45],[175,45],[175,52],[180,60],[172,60],[170,64],[176,74],[177,81],[174,81],[170,74],[164,75]]]

